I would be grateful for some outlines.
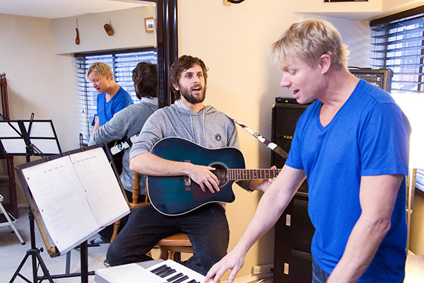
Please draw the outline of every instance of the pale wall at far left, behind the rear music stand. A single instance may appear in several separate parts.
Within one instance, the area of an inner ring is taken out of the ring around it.
[[[71,56],[54,54],[50,21],[0,14],[0,72],[12,120],[52,120],[66,151],[78,147],[78,100]],[[15,165],[25,158],[16,157]],[[18,185],[18,204],[25,204]]]

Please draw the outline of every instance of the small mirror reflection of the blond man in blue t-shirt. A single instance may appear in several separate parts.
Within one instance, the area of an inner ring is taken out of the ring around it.
[[[128,92],[119,86],[113,79],[112,69],[108,64],[94,62],[88,67],[87,78],[93,83],[93,88],[98,91],[97,115],[93,133],[115,113],[134,104]]]

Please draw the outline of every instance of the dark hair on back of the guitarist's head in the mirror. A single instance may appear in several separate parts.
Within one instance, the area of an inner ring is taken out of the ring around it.
[[[137,98],[158,97],[158,67],[151,62],[140,62],[132,71]]]

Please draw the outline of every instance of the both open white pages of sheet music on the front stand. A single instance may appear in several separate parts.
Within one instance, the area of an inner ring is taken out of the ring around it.
[[[22,173],[61,254],[129,214],[102,148],[23,168]]]

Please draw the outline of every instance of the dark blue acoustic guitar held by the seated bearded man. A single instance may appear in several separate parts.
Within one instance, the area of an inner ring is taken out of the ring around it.
[[[235,180],[275,178],[281,170],[245,169],[245,158],[235,147],[206,149],[187,139],[167,137],[158,141],[151,150],[161,158],[211,166],[218,177],[220,191],[203,192],[188,176],[147,176],[146,185],[151,204],[165,215],[180,215],[211,202],[234,202],[232,183]]]

